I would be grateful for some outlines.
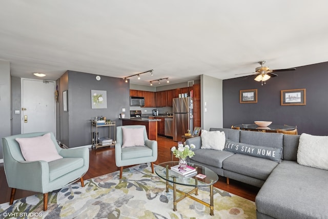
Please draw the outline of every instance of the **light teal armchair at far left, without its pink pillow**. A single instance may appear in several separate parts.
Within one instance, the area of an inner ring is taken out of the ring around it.
[[[60,148],[51,133],[51,140],[58,154],[63,158],[51,162],[28,162],[24,159],[15,139],[43,136],[46,133],[48,132],[17,134],[2,139],[4,168],[8,186],[11,188],[10,205],[13,204],[16,189],[23,189],[43,193],[44,211],[46,211],[48,192],[70,185],[78,179],[84,187],[83,175],[89,169],[88,148]]]

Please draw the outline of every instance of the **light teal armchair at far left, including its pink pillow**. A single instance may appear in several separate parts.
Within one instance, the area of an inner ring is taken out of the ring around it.
[[[48,192],[80,180],[89,169],[89,149],[63,149],[51,132],[17,134],[2,138],[4,169],[11,188],[12,205],[16,189],[43,193],[44,211]]]

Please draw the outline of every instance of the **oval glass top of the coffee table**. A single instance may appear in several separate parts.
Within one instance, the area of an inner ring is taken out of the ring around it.
[[[156,174],[163,178],[164,180],[167,180],[171,183],[173,182],[173,177],[175,176],[175,183],[176,184],[180,184],[180,185],[184,185],[184,186],[195,186],[195,184],[199,187],[199,186],[210,186],[213,185],[214,183],[216,183],[219,180],[218,175],[213,172],[212,170],[210,170],[207,167],[203,167],[199,164],[193,164],[193,163],[188,163],[189,166],[197,168],[197,174],[201,173],[203,175],[206,175],[205,178],[201,179],[196,177],[195,175],[197,175],[196,173],[193,174],[192,176],[183,176],[173,170],[171,170],[170,168],[172,166],[176,166],[178,165],[179,162],[177,161],[172,161],[172,162],[164,162],[161,164],[158,164],[155,166],[155,172]],[[168,170],[169,170],[169,175],[167,178],[167,171],[166,171],[166,167],[168,166]],[[195,182],[197,178],[197,183]]]

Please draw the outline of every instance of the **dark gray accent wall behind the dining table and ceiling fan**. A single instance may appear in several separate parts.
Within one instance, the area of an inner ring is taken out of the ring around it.
[[[273,121],[296,125],[298,132],[328,135],[328,62],[278,72],[261,86],[254,76],[223,80],[223,127]],[[306,89],[305,106],[281,106],[280,90]],[[257,103],[240,104],[239,90],[257,89]]]

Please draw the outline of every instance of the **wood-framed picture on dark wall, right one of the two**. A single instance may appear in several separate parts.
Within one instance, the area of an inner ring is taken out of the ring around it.
[[[280,91],[281,106],[306,105],[306,90],[293,89]]]

